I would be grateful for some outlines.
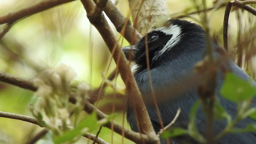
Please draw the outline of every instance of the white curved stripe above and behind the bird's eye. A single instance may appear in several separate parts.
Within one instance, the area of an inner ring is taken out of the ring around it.
[[[160,55],[162,55],[166,50],[171,49],[175,44],[177,44],[180,41],[181,37],[181,28],[178,25],[171,25],[169,27],[163,26],[163,27],[156,27],[149,30],[149,32],[153,31],[161,31],[164,34],[172,35],[172,38],[168,40],[166,45],[154,56],[154,60],[156,60]]]

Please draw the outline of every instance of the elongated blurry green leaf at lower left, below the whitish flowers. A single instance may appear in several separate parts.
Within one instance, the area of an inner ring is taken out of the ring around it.
[[[54,144],[62,144],[64,142],[72,141],[77,136],[81,136],[84,132],[94,130],[99,126],[100,124],[98,123],[96,112],[92,112],[90,116],[82,119],[74,129],[67,131],[61,136],[54,138]]]

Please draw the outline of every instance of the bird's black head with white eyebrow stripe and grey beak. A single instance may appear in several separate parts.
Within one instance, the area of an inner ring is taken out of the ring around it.
[[[136,68],[144,70],[147,67],[147,54],[150,68],[159,62],[173,60],[184,50],[196,51],[205,47],[204,30],[198,24],[186,20],[170,19],[156,24],[136,45],[122,48],[126,57],[132,52],[132,61]],[[139,70],[139,71],[140,71]]]

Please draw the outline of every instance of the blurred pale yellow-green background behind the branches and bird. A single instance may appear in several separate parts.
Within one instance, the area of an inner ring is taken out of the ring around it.
[[[37,2],[40,0],[0,0],[0,16]],[[214,0],[207,0],[207,2],[209,8],[214,5]],[[167,0],[167,3],[172,16],[196,10],[192,0]],[[128,15],[127,0],[118,0],[116,6],[124,16]],[[224,10],[225,6],[208,12],[210,34],[222,45]],[[243,10],[235,8],[232,10],[228,28],[230,56],[235,61],[237,60],[238,40],[240,40],[240,46],[244,51],[241,66],[251,76],[255,76],[252,68],[256,60],[253,63],[251,57],[256,54],[256,18]],[[185,19],[198,23],[198,18],[197,14],[193,14]],[[120,44],[128,46],[128,42],[116,32],[110,20],[109,23],[120,40]],[[0,29],[3,28],[4,24],[0,25]],[[88,82],[92,88],[98,88],[103,81],[102,75],[108,75],[116,67],[106,44],[98,31],[90,25],[86,12],[78,0],[29,16],[16,23],[0,39],[1,71],[24,78],[34,78],[43,69],[54,68],[58,64],[71,66],[78,74],[76,79]],[[113,84],[117,86],[117,91],[107,86],[106,96],[96,106],[106,114],[112,114],[114,111],[117,114],[114,120],[129,128],[124,114],[124,84],[119,76]],[[116,100],[113,100],[114,94]],[[33,92],[0,82],[0,111],[32,116],[28,106],[35,99]],[[115,107],[114,110],[113,107]],[[81,114],[81,116],[85,115],[85,113]],[[1,142],[24,143],[26,139],[39,131],[39,126],[19,120],[0,118],[0,144]],[[92,133],[96,134],[96,132],[97,130]],[[122,142],[122,136],[107,128],[102,128],[99,136],[109,143]],[[81,138],[77,143],[87,141],[86,138]],[[124,144],[130,143],[132,142],[124,140]]]

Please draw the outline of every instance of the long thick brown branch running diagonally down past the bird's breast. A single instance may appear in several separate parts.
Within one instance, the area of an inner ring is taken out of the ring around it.
[[[93,17],[92,14],[95,9],[95,4],[94,2],[92,2],[92,0],[81,0],[81,2],[84,5],[89,21],[101,34],[110,52],[112,52],[112,57],[114,58],[114,61],[116,62],[116,64],[118,64],[118,71],[120,72],[120,76],[124,81],[124,84],[126,84],[128,98],[130,100],[135,100],[133,101],[133,109],[140,116],[138,117],[138,119],[141,122],[139,128],[142,130],[142,134],[150,136],[152,140],[151,142],[160,142],[152,127],[150,118],[146,111],[146,106],[142,100],[142,96],[140,95],[140,91],[134,80],[134,77],[132,76],[128,61],[126,60],[126,57],[122,52],[120,45],[116,40],[116,37],[114,36],[110,26],[108,25],[106,18],[104,18],[103,13],[100,14],[100,16]]]

